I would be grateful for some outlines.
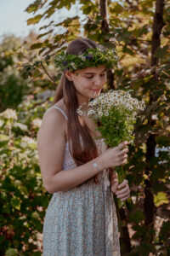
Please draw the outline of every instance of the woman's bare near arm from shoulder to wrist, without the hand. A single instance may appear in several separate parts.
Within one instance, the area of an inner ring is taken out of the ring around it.
[[[71,189],[104,169],[99,157],[71,170],[63,171],[65,155],[65,125],[62,113],[50,109],[42,119],[37,134],[37,148],[44,187],[49,193]],[[93,166],[94,161],[99,170]]]

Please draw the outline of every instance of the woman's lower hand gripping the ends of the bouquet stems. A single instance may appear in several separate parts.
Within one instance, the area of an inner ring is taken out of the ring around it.
[[[130,197],[130,189],[127,179],[124,179],[121,184],[118,185],[118,178],[116,173],[111,174],[111,191],[116,194],[117,198],[121,201],[127,200]]]

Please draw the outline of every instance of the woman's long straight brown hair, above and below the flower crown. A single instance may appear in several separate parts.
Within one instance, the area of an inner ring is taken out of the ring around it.
[[[66,52],[68,54],[81,55],[87,49],[95,49],[97,47],[98,44],[88,38],[77,38],[68,45]],[[53,105],[61,98],[63,98],[65,107],[68,110],[67,128],[71,156],[75,160],[77,166],[81,166],[88,161],[93,160],[99,154],[94,139],[91,137],[88,125],[86,125],[83,120],[80,123],[77,115],[78,100],[76,89],[73,82],[66,78],[65,73],[62,74],[57,86]],[[94,176],[94,182],[99,183],[98,175]]]

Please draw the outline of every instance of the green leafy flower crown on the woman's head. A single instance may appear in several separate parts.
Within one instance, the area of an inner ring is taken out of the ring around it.
[[[116,49],[87,49],[81,55],[72,55],[62,51],[55,55],[55,67],[59,67],[61,71],[75,71],[85,67],[99,67],[105,64],[105,67],[111,68],[116,66],[118,56]]]

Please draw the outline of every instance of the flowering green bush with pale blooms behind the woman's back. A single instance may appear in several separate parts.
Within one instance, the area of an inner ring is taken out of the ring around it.
[[[0,115],[1,255],[41,255],[33,252],[50,195],[37,156],[37,131],[48,105],[39,104],[26,97],[17,112],[8,108]]]

